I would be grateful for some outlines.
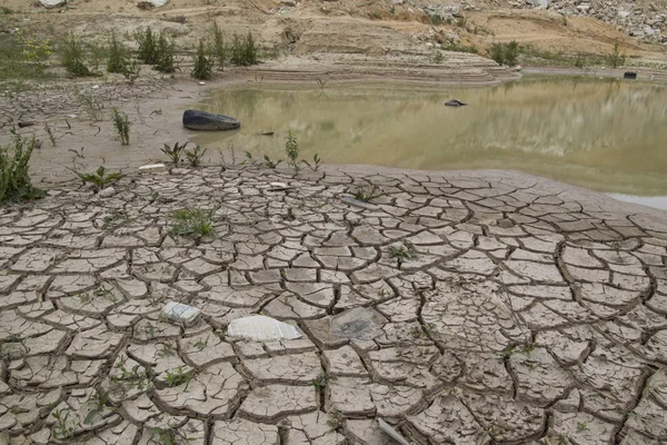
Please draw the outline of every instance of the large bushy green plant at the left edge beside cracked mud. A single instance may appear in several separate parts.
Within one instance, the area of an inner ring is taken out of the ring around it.
[[[23,138],[13,132],[11,146],[0,146],[0,204],[17,202],[23,199],[38,199],[46,196],[43,190],[30,184],[28,164],[37,147],[34,136]]]

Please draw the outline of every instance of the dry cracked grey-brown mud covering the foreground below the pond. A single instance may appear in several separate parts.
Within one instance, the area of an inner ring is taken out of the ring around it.
[[[392,444],[384,418],[414,444],[667,441],[664,214],[517,174],[350,171],[175,168],[0,210],[0,428]],[[341,199],[371,185],[369,205]],[[186,207],[215,236],[169,236]],[[201,317],[166,320],[169,300]],[[302,337],[227,334],[249,314]]]

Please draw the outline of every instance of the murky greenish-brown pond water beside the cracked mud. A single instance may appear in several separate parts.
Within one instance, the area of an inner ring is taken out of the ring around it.
[[[445,107],[451,98],[469,106]],[[329,164],[516,169],[605,192],[667,195],[665,86],[585,78],[492,88],[262,86],[219,91],[203,107],[242,128],[198,142],[230,140],[237,154],[285,157],[291,129],[303,157],[318,152]]]

